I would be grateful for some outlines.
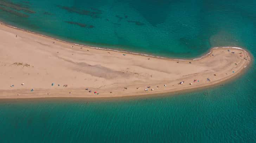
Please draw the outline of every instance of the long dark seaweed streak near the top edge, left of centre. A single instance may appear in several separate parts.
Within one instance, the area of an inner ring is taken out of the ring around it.
[[[79,8],[75,8],[75,7],[60,6],[60,5],[58,5],[57,7],[61,8],[61,9],[64,9],[64,10],[66,10],[68,12],[71,12],[71,13],[77,13],[77,14],[80,14],[80,15],[88,15],[88,16],[91,16],[93,18],[101,18],[100,15],[102,14],[102,12],[99,11],[99,10],[90,11],[90,10],[84,10],[84,9],[79,9]]]

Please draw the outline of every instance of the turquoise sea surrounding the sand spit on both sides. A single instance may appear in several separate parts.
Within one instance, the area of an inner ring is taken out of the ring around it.
[[[96,47],[256,56],[255,0],[0,0],[0,21]],[[1,40],[0,40],[1,41]],[[256,143],[256,64],[224,86],[118,99],[0,100],[0,143]]]

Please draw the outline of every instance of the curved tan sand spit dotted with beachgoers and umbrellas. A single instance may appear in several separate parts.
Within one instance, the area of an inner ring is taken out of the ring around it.
[[[235,78],[241,48],[178,60],[100,50],[0,25],[0,98],[115,97],[184,91]]]

